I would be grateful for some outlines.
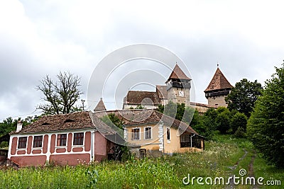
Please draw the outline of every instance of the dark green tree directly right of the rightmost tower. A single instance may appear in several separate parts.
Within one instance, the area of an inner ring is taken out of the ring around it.
[[[253,110],[254,103],[261,95],[262,86],[256,81],[242,79],[231,89],[231,93],[225,98],[229,110],[238,110],[248,118]]]

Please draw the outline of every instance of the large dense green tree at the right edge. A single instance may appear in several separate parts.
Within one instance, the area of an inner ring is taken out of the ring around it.
[[[284,167],[284,63],[275,70],[256,101],[247,134],[268,162]]]

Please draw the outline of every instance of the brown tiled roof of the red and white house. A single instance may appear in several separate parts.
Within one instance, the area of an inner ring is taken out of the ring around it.
[[[87,128],[98,128],[102,134],[114,134],[108,125],[99,120],[96,115],[91,112],[76,112],[62,115],[43,116],[31,125],[26,125],[20,132],[11,132],[11,134],[24,134],[36,132],[56,132],[62,130],[80,130]]]

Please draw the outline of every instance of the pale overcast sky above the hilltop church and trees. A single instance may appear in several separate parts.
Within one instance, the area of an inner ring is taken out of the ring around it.
[[[77,74],[87,99],[97,64],[114,50],[137,43],[159,45],[180,57],[199,103],[207,103],[203,91],[217,62],[232,85],[243,78],[263,84],[284,59],[283,5],[259,0],[0,1],[0,120],[39,115],[35,108],[42,95],[35,86],[46,74]],[[148,76],[152,85],[163,84],[170,72],[161,73],[160,79]],[[122,103],[126,93],[116,101]],[[113,108],[114,99],[106,93],[104,98],[107,108]],[[89,108],[97,101],[88,101]]]

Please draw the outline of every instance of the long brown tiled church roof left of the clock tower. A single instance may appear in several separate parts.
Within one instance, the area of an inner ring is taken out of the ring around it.
[[[160,103],[158,93],[151,91],[129,91],[124,97],[124,103],[129,105],[141,105],[142,101],[144,104],[152,104],[153,102],[154,105],[158,105]]]

